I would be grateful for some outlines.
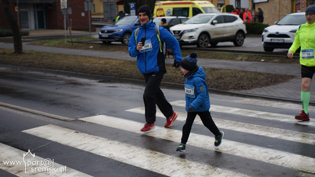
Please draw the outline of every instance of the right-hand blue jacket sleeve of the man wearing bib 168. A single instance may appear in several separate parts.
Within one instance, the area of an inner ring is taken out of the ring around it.
[[[181,61],[183,58],[181,56],[180,46],[177,39],[165,28],[159,27],[160,39],[165,42],[166,45],[173,50],[174,61]]]

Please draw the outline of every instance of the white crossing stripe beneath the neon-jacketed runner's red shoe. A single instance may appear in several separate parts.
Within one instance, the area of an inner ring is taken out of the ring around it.
[[[179,100],[179,101],[170,102],[170,104],[176,105],[176,106],[185,106],[186,102],[184,100]],[[210,112],[211,111],[315,126],[315,118],[310,118],[310,121],[297,121],[294,119],[294,116],[292,115],[278,114],[278,113],[265,112],[265,111],[255,111],[255,110],[241,109],[241,108],[233,108],[233,107],[227,107],[227,106],[218,106],[218,105],[213,105],[213,104],[211,104],[211,107],[210,107]]]

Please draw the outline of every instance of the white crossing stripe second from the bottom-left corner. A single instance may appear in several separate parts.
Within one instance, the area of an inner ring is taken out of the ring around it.
[[[75,130],[55,125],[41,126],[23,132],[167,176],[248,177],[245,174],[169,156],[139,146],[81,132],[76,133]]]

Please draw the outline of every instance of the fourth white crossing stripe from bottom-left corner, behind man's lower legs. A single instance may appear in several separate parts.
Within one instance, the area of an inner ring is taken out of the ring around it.
[[[126,111],[144,114],[145,108],[140,107],[140,108],[129,109]],[[187,113],[182,113],[182,112],[176,112],[176,113],[178,114],[176,121],[183,121],[183,122],[186,121]],[[164,117],[163,113],[159,109],[157,109],[156,111],[156,116]],[[241,122],[224,120],[224,119],[217,119],[214,117],[212,119],[214,120],[216,126],[219,129],[224,128],[228,130],[239,131],[242,133],[250,133],[250,134],[256,134],[256,135],[261,135],[261,136],[266,136],[266,137],[271,137],[271,138],[278,138],[281,140],[289,140],[289,141],[315,145],[315,134],[267,127],[267,126],[262,126],[262,125],[255,125],[255,124],[250,124],[250,123],[241,123]],[[198,115],[196,116],[194,123],[203,125]]]

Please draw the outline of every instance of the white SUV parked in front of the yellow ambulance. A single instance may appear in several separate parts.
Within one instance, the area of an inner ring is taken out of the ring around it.
[[[180,46],[196,44],[201,48],[229,41],[242,46],[247,33],[243,20],[232,13],[197,14],[183,24],[172,26],[170,31]]]

